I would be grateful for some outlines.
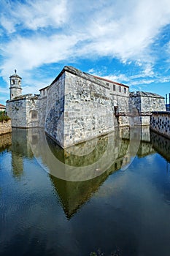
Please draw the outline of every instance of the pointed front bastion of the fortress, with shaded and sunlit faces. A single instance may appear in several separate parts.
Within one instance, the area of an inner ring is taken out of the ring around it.
[[[47,89],[45,132],[63,148],[112,132],[114,106],[128,110],[128,92],[114,94],[107,85],[80,71],[65,70]]]

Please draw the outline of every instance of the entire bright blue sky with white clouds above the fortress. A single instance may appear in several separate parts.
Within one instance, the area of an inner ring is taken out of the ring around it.
[[[1,0],[0,10],[2,104],[14,69],[23,94],[38,94],[65,65],[170,93],[169,0]]]

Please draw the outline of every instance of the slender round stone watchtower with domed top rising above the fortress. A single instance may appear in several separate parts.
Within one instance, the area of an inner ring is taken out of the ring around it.
[[[21,80],[19,75],[17,75],[17,70],[15,69],[15,74],[10,77],[10,99],[14,99],[22,94]]]

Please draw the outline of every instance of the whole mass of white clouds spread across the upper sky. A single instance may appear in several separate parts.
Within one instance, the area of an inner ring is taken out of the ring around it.
[[[151,46],[170,23],[168,0],[98,0],[97,4],[90,0],[81,4],[78,0],[1,0],[0,7],[4,12],[1,26],[9,38],[0,45],[1,75],[7,81],[15,67],[31,81],[27,72],[43,64],[101,56],[123,64],[135,62],[141,70],[134,75],[111,74],[107,76],[111,80],[135,84],[139,78],[147,83],[145,78],[157,77],[158,57],[152,55]]]

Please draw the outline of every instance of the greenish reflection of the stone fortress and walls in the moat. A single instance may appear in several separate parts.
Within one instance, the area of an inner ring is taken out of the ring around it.
[[[117,129],[110,135],[63,150],[42,129],[13,129],[1,137],[0,151],[12,152],[12,172],[23,175],[24,158],[33,159],[49,173],[66,217],[70,219],[109,175],[125,170],[133,157],[158,151],[170,161],[170,140],[150,132],[149,127]]]

